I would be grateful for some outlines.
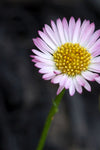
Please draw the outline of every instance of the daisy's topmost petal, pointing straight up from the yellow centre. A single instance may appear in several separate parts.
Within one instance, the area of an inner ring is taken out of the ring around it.
[[[75,19],[74,17],[71,17],[69,20],[69,41],[70,42],[72,42],[74,28],[75,28]]]

